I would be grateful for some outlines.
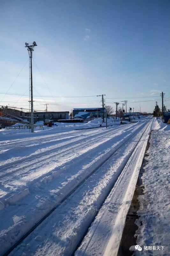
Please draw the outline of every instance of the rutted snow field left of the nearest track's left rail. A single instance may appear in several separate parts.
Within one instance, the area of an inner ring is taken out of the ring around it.
[[[35,133],[6,130],[0,142],[1,253],[144,126],[143,122],[76,131],[56,126]]]

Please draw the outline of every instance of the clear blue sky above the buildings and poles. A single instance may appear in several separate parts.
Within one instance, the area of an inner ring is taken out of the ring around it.
[[[127,100],[150,112],[162,91],[170,108],[169,10],[168,0],[1,0],[0,105],[28,108],[24,46],[36,41],[34,109],[100,107],[95,95],[106,94],[114,109]]]

